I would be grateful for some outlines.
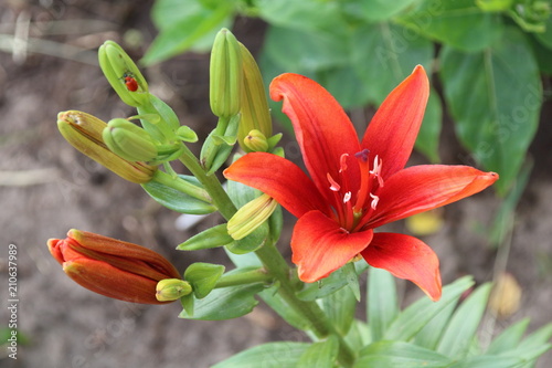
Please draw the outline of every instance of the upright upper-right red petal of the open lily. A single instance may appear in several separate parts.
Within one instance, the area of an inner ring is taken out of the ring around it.
[[[372,157],[378,155],[382,159],[383,179],[406,165],[424,118],[428,96],[429,81],[424,67],[417,65],[389,94],[368,126],[361,146],[368,148]]]

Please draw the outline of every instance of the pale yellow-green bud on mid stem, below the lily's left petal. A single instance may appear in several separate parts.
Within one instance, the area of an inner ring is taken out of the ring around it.
[[[251,234],[273,214],[278,203],[268,194],[261,194],[242,207],[230,219],[226,229],[229,234],[240,240]]]

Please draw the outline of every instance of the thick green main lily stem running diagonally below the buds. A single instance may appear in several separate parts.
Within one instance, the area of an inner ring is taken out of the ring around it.
[[[230,220],[237,211],[234,203],[227,196],[221,182],[214,175],[206,175],[201,167],[198,158],[185,147],[180,156],[180,161],[192,172],[193,176],[203,185],[209,192],[212,203],[217,208],[224,219]],[[305,302],[297,297],[294,284],[290,281],[290,269],[287,262],[278,252],[272,242],[267,242],[255,254],[263,263],[267,273],[276,278],[280,287],[278,294],[295,309],[295,312],[306,318],[318,338],[325,338],[328,335],[335,335],[339,339],[339,362],[342,367],[351,367],[354,361],[354,353],[343,340],[342,336],[336,330],[336,327],[328,319],[323,311],[316,302]]]

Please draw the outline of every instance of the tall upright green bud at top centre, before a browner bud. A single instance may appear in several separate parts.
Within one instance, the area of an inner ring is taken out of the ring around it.
[[[242,74],[240,43],[222,29],[211,51],[209,97],[214,115],[232,117],[240,112]]]

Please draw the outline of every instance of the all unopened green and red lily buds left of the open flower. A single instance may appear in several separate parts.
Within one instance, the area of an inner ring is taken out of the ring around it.
[[[210,194],[201,183],[177,176],[168,164],[181,157],[184,143],[198,140],[195,133],[181,126],[174,112],[149,92],[146,78],[117,43],[107,41],[100,46],[99,65],[120,99],[136,107],[138,115],[105,123],[83,112],[60,113],[57,126],[63,137],[124,179],[142,185],[153,198],[159,188],[164,193],[170,189],[188,194],[185,201],[190,203],[177,206],[183,213],[194,213],[198,208],[202,211],[208,208],[205,213],[213,211]],[[211,108],[219,123],[202,146],[200,162],[205,174],[209,176],[217,170],[236,143],[246,153],[278,154],[275,146],[280,135],[272,135],[268,102],[258,66],[250,51],[226,29],[214,40],[210,71]],[[130,119],[139,119],[140,124]],[[158,169],[159,165],[164,166],[164,171]],[[262,246],[268,229],[277,228],[267,224],[268,219],[275,218],[273,212],[278,208],[277,202],[246,187],[231,197],[242,208],[223,229],[224,244],[220,245],[227,245],[236,253]],[[164,257],[136,244],[71,230],[66,239],[51,239],[47,245],[67,275],[84,287],[109,297],[162,304],[190,298],[192,288],[193,294],[204,288],[201,283],[181,280]],[[209,290],[212,287],[214,284]]]

